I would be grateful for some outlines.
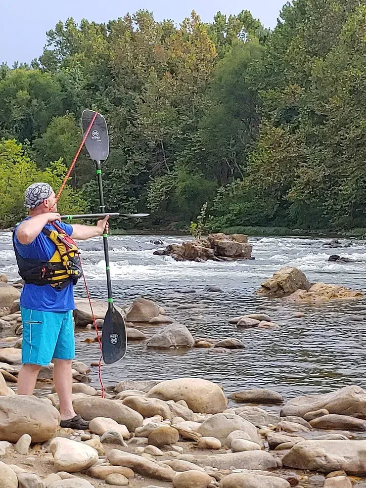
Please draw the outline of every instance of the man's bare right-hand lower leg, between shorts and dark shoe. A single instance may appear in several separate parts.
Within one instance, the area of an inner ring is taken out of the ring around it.
[[[72,406],[72,372],[71,363],[65,359],[54,359],[53,381],[60,400],[61,420],[69,420],[76,416]]]

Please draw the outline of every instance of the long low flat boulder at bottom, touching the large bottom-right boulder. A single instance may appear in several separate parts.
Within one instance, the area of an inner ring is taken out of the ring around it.
[[[260,469],[267,470],[277,467],[277,463],[270,453],[265,451],[233,452],[229,454],[215,454],[199,456],[183,454],[179,456],[183,461],[189,461],[199,466],[211,466],[218,469]]]

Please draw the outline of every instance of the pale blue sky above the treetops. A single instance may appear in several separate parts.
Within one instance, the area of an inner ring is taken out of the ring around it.
[[[0,0],[0,63],[30,62],[42,54],[46,31],[59,20],[73,17],[107,22],[139,9],[152,11],[156,20],[172,19],[179,24],[195,10],[210,22],[219,10],[237,14],[250,10],[266,27],[274,27],[286,0]]]

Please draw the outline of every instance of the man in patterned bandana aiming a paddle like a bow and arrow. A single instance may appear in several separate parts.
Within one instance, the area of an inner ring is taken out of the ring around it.
[[[14,231],[19,273],[25,279],[20,297],[23,322],[22,363],[18,395],[33,395],[42,366],[54,362],[53,380],[60,401],[61,427],[87,429],[72,404],[72,359],[75,339],[73,287],[82,275],[73,240],[108,232],[108,218],[96,226],[60,221],[55,193],[47,183],[34,183],[25,192],[29,216]]]

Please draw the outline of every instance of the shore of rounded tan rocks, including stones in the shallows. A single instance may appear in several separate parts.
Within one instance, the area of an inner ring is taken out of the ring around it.
[[[0,327],[12,334],[0,339],[0,488],[366,488],[366,392],[358,386],[288,400],[267,389],[228,394],[195,377],[143,381],[141,376],[141,381],[117,378],[102,398],[90,385],[92,366],[76,360],[74,409],[90,425],[86,431],[60,428],[52,364],[40,373],[48,384],[42,398],[15,394],[21,283],[8,284],[5,275],[0,280]],[[316,295],[322,288],[296,268],[282,268],[264,283],[270,296],[284,300],[299,290],[320,301],[362,296],[347,289]],[[75,325],[90,329],[89,304],[84,299],[76,304]],[[197,347],[239,354],[235,350],[245,347],[235,337],[193,337],[174,320],[173,305],[165,310],[139,298],[121,308],[129,340],[156,350]],[[178,307],[204,310],[198,304]],[[95,300],[93,308],[102,328],[106,304]],[[275,317],[255,312],[231,317],[230,323],[279,327]],[[147,339],[139,324],[158,328]]]

